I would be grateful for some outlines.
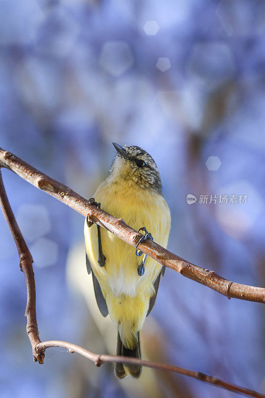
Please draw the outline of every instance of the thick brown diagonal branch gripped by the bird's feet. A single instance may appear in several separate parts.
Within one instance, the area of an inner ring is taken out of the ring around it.
[[[72,207],[84,216],[89,214],[91,221],[112,232],[131,246],[135,247],[142,236],[127,225],[122,219],[113,217],[105,211],[89,204],[87,199],[72,191],[70,188],[46,176],[39,170],[19,159],[17,156],[10,152],[6,152],[1,148],[0,167],[12,170],[30,184],[41,189],[47,194],[52,195],[56,199],[61,200],[63,203]],[[139,249],[158,261],[160,264],[165,265],[166,267],[177,271],[181,275],[205,285],[224,296],[227,296],[228,298],[241,298],[243,300],[265,303],[264,288],[241,285],[239,283],[228,281],[216,274],[214,271],[206,270],[191,264],[150,240],[140,244]]]

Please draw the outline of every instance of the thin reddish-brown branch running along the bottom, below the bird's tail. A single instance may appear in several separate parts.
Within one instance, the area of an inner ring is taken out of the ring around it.
[[[236,386],[235,384],[224,382],[223,380],[217,379],[216,377],[213,377],[213,376],[205,375],[204,373],[201,373],[201,372],[194,372],[192,370],[183,369],[183,368],[179,368],[177,366],[168,365],[168,364],[160,364],[160,363],[156,363],[156,362],[143,361],[143,360],[137,359],[137,358],[94,354],[93,352],[90,352],[90,351],[86,350],[85,348],[79,347],[78,345],[75,345],[75,344],[67,343],[66,341],[57,341],[57,340],[44,341],[43,343],[39,343],[37,345],[36,350],[42,351],[49,347],[66,348],[72,354],[74,352],[77,352],[78,354],[82,355],[83,357],[86,357],[90,361],[94,362],[94,364],[96,366],[101,366],[102,364],[104,364],[106,362],[112,362],[112,363],[122,362],[123,364],[142,365],[142,366],[146,366],[147,368],[175,372],[175,373],[178,373],[179,375],[189,376],[194,379],[200,380],[201,382],[205,382],[205,383],[211,384],[215,387],[220,387],[220,388],[223,388],[225,390],[228,390],[233,393],[240,394],[240,395],[246,395],[248,397],[265,398],[265,395],[257,393],[256,391],[249,390],[244,387],[239,387],[239,386]]]

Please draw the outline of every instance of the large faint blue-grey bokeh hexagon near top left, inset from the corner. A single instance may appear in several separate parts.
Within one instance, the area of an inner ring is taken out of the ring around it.
[[[79,24],[61,5],[49,9],[35,37],[36,50],[58,56],[69,54],[80,32]]]

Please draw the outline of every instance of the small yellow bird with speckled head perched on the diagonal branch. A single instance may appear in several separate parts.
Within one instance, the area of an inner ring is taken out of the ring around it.
[[[106,212],[123,218],[132,228],[143,230],[140,239],[152,239],[167,247],[171,214],[162,194],[157,165],[138,146],[113,143],[115,156],[109,174],[89,199]],[[85,243],[88,273],[92,273],[94,293],[103,316],[108,314],[117,330],[116,355],[141,358],[140,332],[145,317],[152,310],[159,287],[162,267],[111,232],[86,218]],[[148,233],[148,231],[152,232]],[[142,367],[117,363],[119,379],[138,378]]]

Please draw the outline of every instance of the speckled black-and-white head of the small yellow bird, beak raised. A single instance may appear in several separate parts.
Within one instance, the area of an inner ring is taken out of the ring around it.
[[[160,173],[149,153],[135,145],[121,147],[113,142],[113,146],[117,155],[109,171],[109,178],[116,182],[122,179],[143,189],[162,192]]]

